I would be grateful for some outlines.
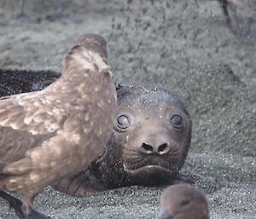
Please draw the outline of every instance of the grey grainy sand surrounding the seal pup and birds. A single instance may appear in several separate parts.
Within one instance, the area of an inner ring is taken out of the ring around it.
[[[211,218],[256,218],[255,22],[238,38],[213,0],[70,0],[65,13],[80,23],[63,25],[44,19],[55,11],[52,1],[26,2],[41,23],[12,19],[17,1],[0,2],[0,67],[61,71],[76,37],[102,34],[116,81],[163,84],[189,107],[193,139],[183,172],[207,193]],[[246,26],[256,18],[256,2],[241,2]],[[123,187],[77,199],[48,187],[35,207],[54,218],[154,218],[162,190]],[[9,212],[0,199],[0,218],[14,218]]]

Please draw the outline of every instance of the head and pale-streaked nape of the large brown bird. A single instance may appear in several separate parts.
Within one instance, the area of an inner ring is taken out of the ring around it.
[[[112,76],[106,46],[106,40],[100,35],[90,33],[79,37],[64,59],[63,74],[85,71],[108,72]]]

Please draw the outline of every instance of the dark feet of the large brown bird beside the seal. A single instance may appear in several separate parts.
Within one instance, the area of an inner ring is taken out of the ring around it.
[[[7,200],[9,202],[10,207],[12,207],[15,210],[15,213],[17,216],[19,216],[21,219],[24,218],[24,214],[22,212],[22,201],[20,199],[15,198],[14,196],[10,195],[9,193],[5,193],[3,191],[0,191],[0,196]],[[31,209],[30,214],[28,216],[28,219],[49,219],[49,216],[44,216],[37,210]]]

